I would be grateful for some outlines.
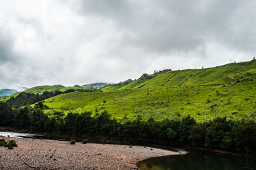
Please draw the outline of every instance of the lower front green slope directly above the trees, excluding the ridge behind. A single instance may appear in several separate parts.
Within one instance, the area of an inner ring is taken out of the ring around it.
[[[113,117],[157,120],[191,115],[198,121],[214,117],[256,118],[256,81],[225,87],[180,87],[116,90],[114,92],[73,92],[45,100],[54,110],[107,110]],[[104,103],[106,101],[106,103]]]

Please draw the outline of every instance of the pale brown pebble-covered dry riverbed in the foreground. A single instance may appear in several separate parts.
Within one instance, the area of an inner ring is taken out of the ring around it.
[[[144,146],[70,145],[68,141],[28,138],[15,141],[18,147],[13,150],[0,147],[0,169],[137,169],[140,160],[180,154]]]

